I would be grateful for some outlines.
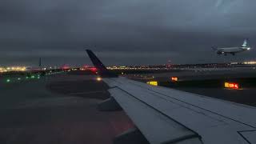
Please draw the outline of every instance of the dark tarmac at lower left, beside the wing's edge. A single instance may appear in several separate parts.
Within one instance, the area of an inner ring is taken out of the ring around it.
[[[97,110],[109,94],[92,78],[57,75],[2,86],[0,143],[112,143],[133,123],[122,111]]]

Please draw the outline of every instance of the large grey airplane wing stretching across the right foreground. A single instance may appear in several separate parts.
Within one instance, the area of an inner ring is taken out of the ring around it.
[[[87,53],[94,55],[90,50]],[[102,70],[102,66],[94,66]],[[150,143],[256,143],[253,106],[150,86],[123,77],[103,80],[110,86],[110,100],[125,110]]]

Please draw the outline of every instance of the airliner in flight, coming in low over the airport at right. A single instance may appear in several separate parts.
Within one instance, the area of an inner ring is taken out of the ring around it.
[[[217,52],[217,54],[236,54],[236,53],[241,53],[246,50],[250,50],[250,46],[248,46],[248,40],[244,40],[242,46],[240,47],[223,47],[223,48],[216,48],[213,47],[213,50]]]

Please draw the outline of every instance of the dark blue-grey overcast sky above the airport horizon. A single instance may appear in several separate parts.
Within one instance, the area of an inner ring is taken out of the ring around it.
[[[1,0],[0,65],[106,65],[256,60],[256,49],[218,56],[211,46],[256,42],[251,0]]]

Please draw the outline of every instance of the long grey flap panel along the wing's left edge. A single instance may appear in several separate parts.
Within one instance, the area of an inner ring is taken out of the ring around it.
[[[150,143],[201,143],[200,137],[193,130],[175,122],[125,90],[114,87],[109,91]]]

